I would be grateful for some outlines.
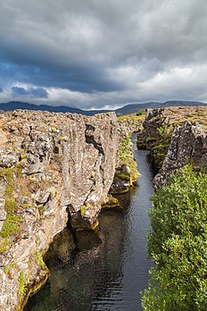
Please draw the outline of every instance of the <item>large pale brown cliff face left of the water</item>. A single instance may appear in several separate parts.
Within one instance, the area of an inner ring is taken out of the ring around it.
[[[42,254],[68,217],[74,228],[95,228],[119,140],[114,113],[0,115],[1,310],[21,307],[46,279]]]

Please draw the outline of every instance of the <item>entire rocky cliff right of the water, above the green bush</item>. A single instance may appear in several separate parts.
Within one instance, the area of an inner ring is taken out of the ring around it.
[[[147,110],[137,147],[149,149],[155,166],[161,168],[153,181],[156,188],[165,185],[170,174],[185,164],[206,169],[206,133],[206,107]]]

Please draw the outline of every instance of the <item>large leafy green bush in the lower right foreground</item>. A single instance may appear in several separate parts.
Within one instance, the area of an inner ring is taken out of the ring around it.
[[[145,311],[207,309],[207,175],[180,169],[153,195],[148,250],[156,264]]]

